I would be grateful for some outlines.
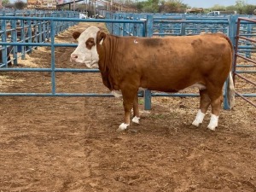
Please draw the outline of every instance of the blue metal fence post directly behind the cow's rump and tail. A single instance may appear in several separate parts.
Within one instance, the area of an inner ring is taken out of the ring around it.
[[[228,36],[231,40],[232,43],[232,49],[234,50],[235,42],[236,42],[236,20],[237,20],[238,16],[236,15],[230,15],[229,17],[229,28],[228,28]],[[232,63],[232,68],[234,67],[234,58],[235,58],[235,54],[233,51],[233,63]],[[230,84],[230,77],[228,77],[228,79],[226,80],[225,84],[224,84],[224,109],[230,109],[230,103],[228,102],[228,86]]]

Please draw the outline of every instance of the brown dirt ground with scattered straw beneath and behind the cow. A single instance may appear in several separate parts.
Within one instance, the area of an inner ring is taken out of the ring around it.
[[[56,38],[74,42],[72,32]],[[100,24],[94,24],[100,25]],[[102,24],[101,24],[102,25]],[[57,67],[74,48],[57,48]],[[19,67],[49,67],[41,47]],[[57,92],[108,93],[99,73],[57,73]],[[255,74],[250,75],[255,78]],[[2,92],[49,92],[49,73],[3,73]],[[251,90],[237,83],[240,90]],[[255,98],[251,101],[256,102]],[[153,98],[140,125],[116,132],[123,119],[121,98],[0,97],[0,192],[73,191],[256,191],[256,109],[236,98],[222,110],[216,131],[199,128],[198,98]]]

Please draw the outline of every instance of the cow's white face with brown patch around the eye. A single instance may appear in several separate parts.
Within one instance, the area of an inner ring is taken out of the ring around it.
[[[73,32],[73,38],[79,45],[70,55],[70,61],[84,63],[86,67],[98,67],[99,55],[96,50],[96,35],[100,31],[96,26],[90,26],[84,32]]]

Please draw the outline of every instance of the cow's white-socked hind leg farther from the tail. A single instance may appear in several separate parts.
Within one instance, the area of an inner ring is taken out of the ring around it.
[[[198,110],[192,125],[199,126],[202,123],[210,104],[211,99],[208,96],[207,90],[200,90],[200,109]]]

